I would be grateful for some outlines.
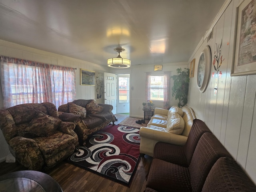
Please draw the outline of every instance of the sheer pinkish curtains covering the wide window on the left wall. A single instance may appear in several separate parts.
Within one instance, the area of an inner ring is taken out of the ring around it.
[[[1,56],[4,107],[51,102],[58,106],[75,100],[74,68]]]

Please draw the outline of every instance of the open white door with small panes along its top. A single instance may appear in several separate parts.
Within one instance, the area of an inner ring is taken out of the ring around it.
[[[104,73],[105,104],[113,106],[112,113],[116,114],[116,74]]]

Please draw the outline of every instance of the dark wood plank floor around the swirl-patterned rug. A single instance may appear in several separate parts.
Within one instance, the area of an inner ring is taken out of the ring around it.
[[[115,124],[120,123],[126,117],[128,116],[116,115],[118,121]],[[152,158],[150,156],[145,155],[140,158],[140,163],[130,187],[113,182],[65,161],[60,162],[52,170],[45,173],[52,176],[64,192],[143,192],[146,186],[145,177],[151,162]],[[25,169],[17,163],[0,163],[0,175]]]

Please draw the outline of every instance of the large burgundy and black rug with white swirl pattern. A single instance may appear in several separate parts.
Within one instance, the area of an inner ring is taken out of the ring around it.
[[[130,186],[140,161],[140,135],[137,128],[109,124],[78,146],[68,162]]]

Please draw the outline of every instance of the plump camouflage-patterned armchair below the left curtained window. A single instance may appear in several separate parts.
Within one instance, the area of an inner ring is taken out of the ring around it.
[[[78,145],[75,124],[62,122],[49,102],[0,110],[0,128],[16,160],[30,170],[55,166]]]

